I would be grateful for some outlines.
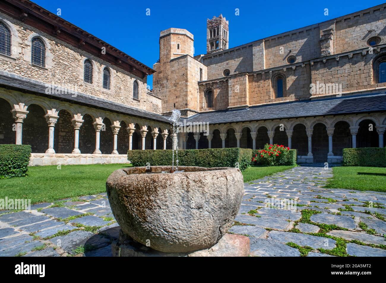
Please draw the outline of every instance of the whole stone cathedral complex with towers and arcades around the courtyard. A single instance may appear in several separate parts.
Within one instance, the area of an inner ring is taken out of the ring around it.
[[[194,35],[160,33],[147,67],[28,0],[0,3],[0,143],[30,144],[32,165],[128,162],[170,149],[168,116],[204,132],[179,148],[278,143],[298,162],[342,161],[345,147],[383,147],[386,4],[229,48],[223,15]],[[147,75],[153,74],[153,90]]]

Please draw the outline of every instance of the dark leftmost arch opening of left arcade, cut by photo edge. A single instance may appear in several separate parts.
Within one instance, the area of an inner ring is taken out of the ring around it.
[[[0,144],[15,144],[16,132],[13,131],[15,119],[11,113],[12,106],[0,98]]]

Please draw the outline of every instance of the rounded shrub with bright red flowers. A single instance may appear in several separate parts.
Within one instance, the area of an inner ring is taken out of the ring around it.
[[[291,159],[290,155],[289,147],[278,144],[266,144],[264,149],[257,150],[255,156],[252,157],[252,162],[255,165],[263,166],[292,165],[288,164]]]

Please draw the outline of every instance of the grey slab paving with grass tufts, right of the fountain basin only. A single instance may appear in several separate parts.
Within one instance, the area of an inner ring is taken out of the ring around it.
[[[295,167],[245,183],[229,232],[254,256],[386,256],[386,193],[322,188],[330,177]]]

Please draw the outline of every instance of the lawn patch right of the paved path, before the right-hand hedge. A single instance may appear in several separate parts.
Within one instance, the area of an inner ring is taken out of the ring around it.
[[[385,167],[339,166],[332,172],[334,177],[328,179],[326,188],[386,192]]]

